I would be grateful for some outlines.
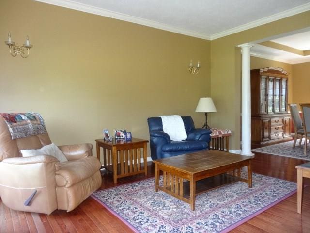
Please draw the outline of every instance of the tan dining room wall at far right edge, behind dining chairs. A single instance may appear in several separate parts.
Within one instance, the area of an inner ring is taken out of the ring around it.
[[[310,62],[293,65],[294,103],[310,103]]]

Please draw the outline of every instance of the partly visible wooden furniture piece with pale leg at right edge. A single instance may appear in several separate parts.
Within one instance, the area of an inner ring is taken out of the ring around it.
[[[295,167],[297,169],[297,213],[301,214],[304,177],[310,178],[310,162]]]

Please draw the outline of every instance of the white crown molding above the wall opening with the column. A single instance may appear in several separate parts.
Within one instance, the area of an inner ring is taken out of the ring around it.
[[[238,27],[235,27],[235,28],[232,28],[232,29],[220,32],[220,33],[215,33],[215,34],[210,36],[210,40],[215,40],[215,39],[227,36],[227,35],[231,35],[233,33],[239,33],[239,32],[248,30],[250,28],[255,28],[257,26],[261,26],[263,24],[270,23],[270,22],[273,22],[273,21],[276,21],[276,20],[279,20],[279,19],[282,19],[282,18],[294,16],[296,14],[299,14],[299,13],[302,13],[302,12],[305,12],[305,11],[309,11],[309,10],[310,10],[310,3],[306,3],[304,5],[297,6],[297,7],[294,7],[292,9],[289,9],[289,10],[286,10],[286,11],[282,11],[282,12],[280,12],[278,14],[275,14],[275,15],[272,15],[272,16],[269,16],[269,17],[264,17],[264,18],[261,18],[261,19],[258,19],[258,20],[255,20],[255,21],[252,21],[252,22],[240,25]]]

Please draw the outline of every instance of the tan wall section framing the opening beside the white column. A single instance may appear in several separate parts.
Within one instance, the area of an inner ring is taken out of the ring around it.
[[[310,11],[211,41],[212,125],[233,130],[230,148],[240,149],[241,55],[237,45],[310,27]]]

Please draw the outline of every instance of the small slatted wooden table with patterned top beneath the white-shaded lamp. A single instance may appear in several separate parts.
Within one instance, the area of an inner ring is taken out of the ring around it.
[[[211,141],[209,144],[209,149],[212,147],[214,150],[222,150],[222,151],[229,151],[229,136],[233,135],[231,130],[227,129],[210,129],[212,133]]]

